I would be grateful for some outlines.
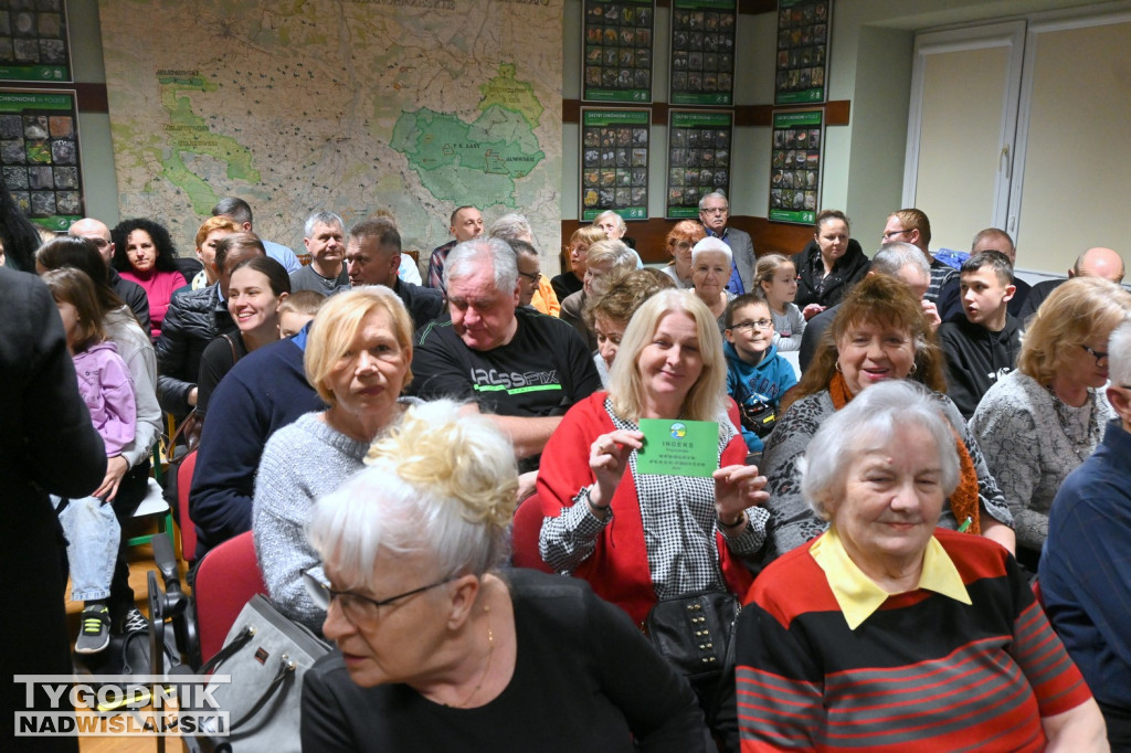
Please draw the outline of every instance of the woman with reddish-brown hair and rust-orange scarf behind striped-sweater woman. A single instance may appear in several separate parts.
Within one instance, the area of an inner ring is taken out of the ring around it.
[[[830,337],[831,336],[831,337]],[[923,305],[903,280],[871,275],[845,297],[797,387],[782,400],[783,415],[766,439],[762,470],[769,479],[765,560],[772,560],[820,535],[828,522],[801,495],[801,460],[818,427],[873,384],[908,379],[933,391],[950,421],[962,458],[962,484],[943,507],[939,525],[1015,546],[1012,516],[982,450],[967,431],[958,407],[942,393],[943,355]]]

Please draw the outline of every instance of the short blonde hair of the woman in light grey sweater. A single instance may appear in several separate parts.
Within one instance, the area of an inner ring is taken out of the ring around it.
[[[322,304],[310,326],[307,350],[302,365],[307,381],[326,405],[334,406],[337,398],[330,390],[330,375],[340,369],[361,331],[365,318],[374,311],[389,314],[392,335],[405,354],[405,380],[413,380],[408,364],[413,361],[413,320],[397,294],[383,285],[366,285],[338,293]]]

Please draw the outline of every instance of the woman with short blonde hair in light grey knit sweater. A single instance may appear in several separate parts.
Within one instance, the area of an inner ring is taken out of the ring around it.
[[[374,438],[414,398],[400,398],[412,379],[412,320],[381,286],[334,296],[311,327],[307,379],[330,407],[280,429],[267,442],[256,476],[252,531],[271,600],[286,616],[321,632],[323,609],[302,583],[318,564],[304,528],[318,497],[360,470]]]

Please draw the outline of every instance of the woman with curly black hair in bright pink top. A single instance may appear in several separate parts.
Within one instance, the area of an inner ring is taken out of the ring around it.
[[[189,280],[173,259],[176,246],[164,226],[150,219],[124,219],[111,231],[114,237],[114,269],[137,283],[149,298],[150,335],[157,339],[173,291]]]

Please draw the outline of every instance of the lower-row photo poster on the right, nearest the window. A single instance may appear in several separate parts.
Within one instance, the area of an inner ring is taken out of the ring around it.
[[[821,198],[824,111],[774,113],[769,219],[811,225]]]

